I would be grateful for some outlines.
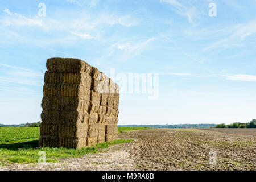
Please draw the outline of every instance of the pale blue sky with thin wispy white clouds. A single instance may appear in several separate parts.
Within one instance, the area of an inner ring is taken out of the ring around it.
[[[255,0],[2,0],[0,123],[40,121],[49,57],[76,57],[107,74],[159,73],[156,100],[121,95],[120,125],[249,122],[255,50]]]

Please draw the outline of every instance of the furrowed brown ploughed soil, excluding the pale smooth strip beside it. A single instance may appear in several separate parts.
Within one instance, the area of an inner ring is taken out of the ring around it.
[[[150,129],[119,137],[137,140],[128,151],[142,170],[256,170],[255,134],[256,129]],[[210,151],[216,152],[216,165],[209,164]]]

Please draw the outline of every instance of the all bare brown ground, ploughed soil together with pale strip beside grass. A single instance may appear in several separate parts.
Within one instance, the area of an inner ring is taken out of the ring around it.
[[[60,163],[9,164],[3,170],[256,170],[256,129],[149,129],[118,134],[134,142]],[[209,152],[216,152],[216,165]]]

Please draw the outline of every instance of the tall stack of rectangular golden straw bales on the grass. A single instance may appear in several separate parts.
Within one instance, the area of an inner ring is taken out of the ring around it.
[[[47,60],[39,146],[81,148],[117,138],[119,86],[79,59]]]

